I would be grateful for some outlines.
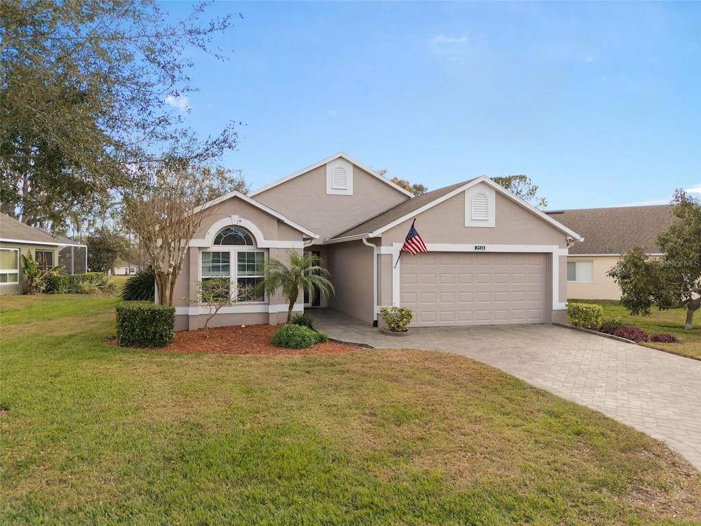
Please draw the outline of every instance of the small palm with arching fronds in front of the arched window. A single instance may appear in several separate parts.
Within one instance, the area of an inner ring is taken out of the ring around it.
[[[329,294],[334,292],[334,285],[327,278],[329,271],[321,266],[319,256],[303,255],[294,250],[290,250],[287,254],[290,257],[289,266],[279,259],[270,259],[266,262],[264,278],[258,283],[258,288],[268,295],[275,294],[280,288],[283,290],[283,296],[290,304],[287,309],[287,323],[290,323],[294,302],[297,302],[300,290],[307,292],[313,301],[317,292],[324,297],[329,297]]]

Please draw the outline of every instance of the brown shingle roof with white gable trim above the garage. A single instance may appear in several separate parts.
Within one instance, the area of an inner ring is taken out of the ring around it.
[[[522,206],[528,210],[530,213],[537,215],[541,220],[544,220],[553,227],[563,231],[573,239],[578,241],[581,240],[579,234],[577,234],[575,231],[553,220],[551,217],[545,215],[545,213],[529,205],[529,203],[526,203],[526,201],[523,199],[518,198],[510,191],[501,187],[501,185],[496,184],[496,182],[489,179],[489,177],[482,175],[480,177],[476,177],[475,179],[459,182],[457,184],[452,184],[449,187],[440,188],[426,192],[426,194],[421,194],[420,196],[415,196],[414,198],[409,199],[409,201],[404,201],[404,203],[400,203],[399,205],[396,205],[389,210],[385,210],[383,213],[380,213],[367,221],[355,225],[355,227],[352,227],[351,229],[347,229],[346,231],[340,232],[335,236],[331,236],[329,239],[327,239],[327,241],[330,243],[337,243],[341,241],[351,241],[351,239],[381,236],[383,232],[388,231],[397,224],[407,221],[411,219],[411,217],[422,213],[424,210],[433,208],[443,201],[446,201],[447,199],[456,196],[465,190],[475,187],[480,183],[487,184],[489,187],[494,188],[494,190],[499,192],[501,195],[505,196],[511,201],[514,201],[519,206]]]

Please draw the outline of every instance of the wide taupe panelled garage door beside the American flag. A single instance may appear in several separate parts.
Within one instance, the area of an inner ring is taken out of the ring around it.
[[[422,252],[401,259],[413,325],[547,322],[545,254]]]

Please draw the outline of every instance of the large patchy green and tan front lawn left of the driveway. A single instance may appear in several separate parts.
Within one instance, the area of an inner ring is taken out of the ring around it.
[[[701,523],[662,443],[494,368],[120,349],[115,302],[0,299],[1,523]]]

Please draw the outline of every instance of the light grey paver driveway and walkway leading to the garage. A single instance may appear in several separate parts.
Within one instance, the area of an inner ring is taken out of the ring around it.
[[[488,363],[663,440],[701,471],[700,360],[554,325],[414,328],[397,337],[330,309],[306,313],[341,342]]]

